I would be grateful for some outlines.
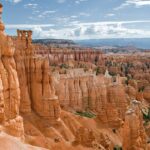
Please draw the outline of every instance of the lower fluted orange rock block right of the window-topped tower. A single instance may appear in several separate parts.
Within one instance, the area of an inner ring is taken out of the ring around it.
[[[48,60],[33,59],[31,61],[32,108],[39,116],[50,121],[60,117],[59,101],[52,82]]]

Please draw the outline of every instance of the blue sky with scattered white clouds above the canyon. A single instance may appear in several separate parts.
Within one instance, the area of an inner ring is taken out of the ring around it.
[[[6,33],[33,38],[150,37],[150,0],[0,0]]]

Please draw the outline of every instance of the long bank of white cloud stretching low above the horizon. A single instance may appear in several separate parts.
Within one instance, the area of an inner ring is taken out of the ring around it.
[[[89,23],[71,22],[62,28],[52,24],[6,25],[6,28],[31,29],[33,30],[34,38],[100,39],[150,37],[150,30],[129,27],[138,23],[150,24],[150,20]]]

